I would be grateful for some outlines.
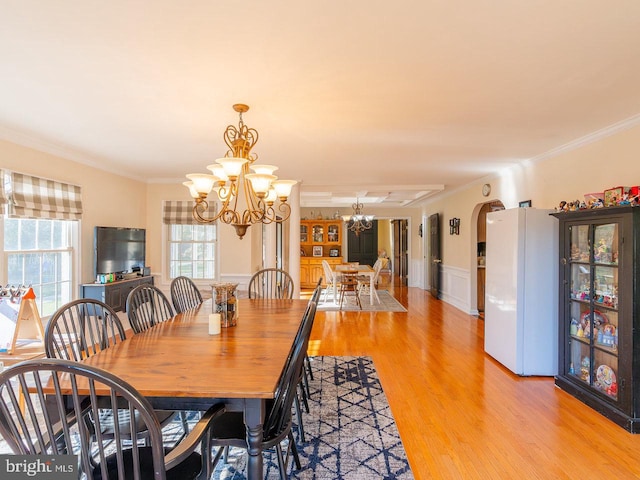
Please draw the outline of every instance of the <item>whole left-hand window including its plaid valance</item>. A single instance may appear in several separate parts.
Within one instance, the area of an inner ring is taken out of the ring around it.
[[[50,316],[75,293],[81,188],[0,170],[0,207],[0,281],[31,285],[40,316]]]

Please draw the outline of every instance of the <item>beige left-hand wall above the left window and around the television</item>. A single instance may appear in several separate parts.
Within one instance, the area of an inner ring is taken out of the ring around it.
[[[146,189],[143,182],[120,177],[65,158],[0,140],[0,168],[60,180],[82,187],[80,278],[92,282],[93,228],[145,228]]]

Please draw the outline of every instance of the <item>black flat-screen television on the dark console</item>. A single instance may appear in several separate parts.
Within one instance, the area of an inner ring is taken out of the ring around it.
[[[145,240],[144,228],[95,227],[95,275],[142,270]]]

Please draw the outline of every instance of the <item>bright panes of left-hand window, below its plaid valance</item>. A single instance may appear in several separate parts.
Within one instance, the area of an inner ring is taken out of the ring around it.
[[[40,316],[73,298],[73,239],[77,222],[4,218],[4,271],[9,285],[31,285]]]

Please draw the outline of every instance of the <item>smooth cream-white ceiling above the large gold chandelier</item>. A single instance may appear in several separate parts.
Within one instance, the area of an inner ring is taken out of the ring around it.
[[[246,103],[303,205],[411,204],[636,119],[639,32],[638,0],[0,0],[0,137],[182,182]]]

